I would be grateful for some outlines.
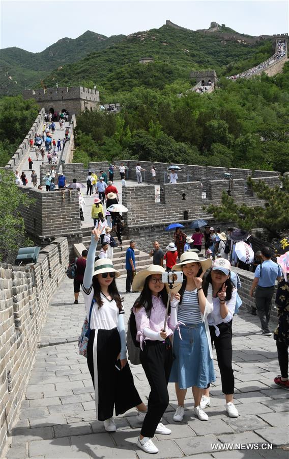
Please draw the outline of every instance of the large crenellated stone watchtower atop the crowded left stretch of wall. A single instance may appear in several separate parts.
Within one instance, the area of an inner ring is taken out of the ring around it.
[[[25,100],[35,99],[39,108],[44,107],[47,113],[66,111],[70,115],[87,110],[92,112],[100,103],[99,91],[83,86],[26,89],[23,97]]]

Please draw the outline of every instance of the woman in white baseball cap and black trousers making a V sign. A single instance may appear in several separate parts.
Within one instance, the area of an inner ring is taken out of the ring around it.
[[[230,418],[239,416],[233,403],[234,371],[232,368],[232,321],[235,313],[237,289],[230,277],[231,265],[228,260],[218,258],[204,276],[203,291],[207,299],[212,298],[213,311],[208,316],[212,343],[215,345],[218,366],[221,373],[222,391],[226,399],[226,412]],[[210,406],[209,389],[201,399],[201,407]]]

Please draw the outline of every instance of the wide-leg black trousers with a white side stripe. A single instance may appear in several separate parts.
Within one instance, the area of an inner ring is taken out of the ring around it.
[[[134,386],[133,376],[129,364],[122,370],[115,368],[117,357],[121,351],[121,340],[117,328],[98,330],[97,334],[97,373],[98,380],[95,387],[93,346],[95,330],[91,330],[88,342],[88,367],[95,391],[98,391],[97,419],[105,421],[115,415],[125,413],[133,406],[141,403],[141,399]]]

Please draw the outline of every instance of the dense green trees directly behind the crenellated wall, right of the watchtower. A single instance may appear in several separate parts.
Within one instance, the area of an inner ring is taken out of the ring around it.
[[[79,115],[74,162],[131,158],[289,171],[288,63],[272,78],[222,78],[211,94],[179,98],[169,89],[119,93],[118,115]]]

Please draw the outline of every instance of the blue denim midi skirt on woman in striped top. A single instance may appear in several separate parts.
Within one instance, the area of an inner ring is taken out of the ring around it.
[[[204,322],[195,325],[180,325],[182,340],[175,330],[172,352],[174,362],[169,382],[178,382],[180,389],[196,386],[206,389],[209,382],[216,380],[214,362]]]

